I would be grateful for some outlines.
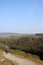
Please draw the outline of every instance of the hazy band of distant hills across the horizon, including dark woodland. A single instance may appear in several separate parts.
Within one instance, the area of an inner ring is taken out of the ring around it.
[[[7,36],[43,36],[43,33],[37,34],[22,34],[22,33],[0,33],[0,37],[7,37]]]

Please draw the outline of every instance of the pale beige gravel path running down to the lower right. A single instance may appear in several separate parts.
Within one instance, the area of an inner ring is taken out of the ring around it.
[[[10,53],[6,54],[4,52],[4,57],[6,57],[7,59],[9,59],[11,61],[16,61],[19,65],[39,65],[33,61],[29,61],[27,59],[22,59],[22,58],[16,57],[15,55],[10,54]]]

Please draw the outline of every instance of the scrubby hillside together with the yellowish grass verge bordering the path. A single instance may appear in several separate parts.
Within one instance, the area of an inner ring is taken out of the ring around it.
[[[43,63],[43,36],[0,37],[0,49]],[[11,50],[12,49],[12,50]]]

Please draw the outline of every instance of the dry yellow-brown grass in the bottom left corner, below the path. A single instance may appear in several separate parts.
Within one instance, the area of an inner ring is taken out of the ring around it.
[[[0,65],[18,65],[18,64],[3,57],[3,51],[0,50]]]

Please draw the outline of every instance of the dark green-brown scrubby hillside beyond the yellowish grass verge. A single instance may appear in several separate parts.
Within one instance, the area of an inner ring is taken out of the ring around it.
[[[13,50],[38,55],[43,60],[43,36],[21,36],[0,38],[0,43]]]

